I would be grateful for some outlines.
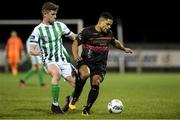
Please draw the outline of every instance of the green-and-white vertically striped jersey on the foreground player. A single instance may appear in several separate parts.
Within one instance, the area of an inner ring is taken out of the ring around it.
[[[69,55],[63,46],[62,35],[70,37],[72,32],[62,22],[56,21],[53,25],[40,23],[31,36],[30,43],[40,46],[43,51],[42,60],[49,62],[69,62]]]

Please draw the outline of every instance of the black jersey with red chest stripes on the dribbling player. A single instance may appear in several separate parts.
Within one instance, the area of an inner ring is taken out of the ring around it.
[[[95,26],[85,28],[78,34],[78,44],[82,44],[81,57],[87,62],[105,64],[107,62],[109,48],[114,41],[111,31],[98,32]]]

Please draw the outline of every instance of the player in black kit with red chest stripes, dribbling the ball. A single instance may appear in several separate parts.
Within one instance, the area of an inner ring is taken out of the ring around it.
[[[78,63],[80,79],[76,82],[75,92],[69,103],[70,109],[76,109],[75,103],[78,100],[86,80],[90,77],[91,89],[89,91],[87,104],[82,115],[87,116],[99,93],[99,85],[106,74],[107,57],[110,46],[123,50],[125,53],[132,53],[130,48],[124,47],[117,40],[110,30],[113,24],[113,17],[108,12],[103,12],[95,26],[84,28],[78,34],[77,40],[72,44],[74,59]],[[82,44],[81,56],[78,55],[78,46]]]

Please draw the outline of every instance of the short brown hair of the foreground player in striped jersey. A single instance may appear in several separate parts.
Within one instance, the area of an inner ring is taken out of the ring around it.
[[[45,2],[42,6],[42,11],[45,10],[58,10],[59,9],[59,5],[56,5],[52,2]]]

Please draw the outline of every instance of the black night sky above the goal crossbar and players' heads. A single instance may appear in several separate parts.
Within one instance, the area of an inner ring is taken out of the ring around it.
[[[1,1],[0,19],[40,19],[45,0]],[[108,11],[123,25],[124,39],[130,43],[180,43],[178,3],[118,0],[51,0],[60,5],[58,18],[82,18],[84,25],[96,24]]]

